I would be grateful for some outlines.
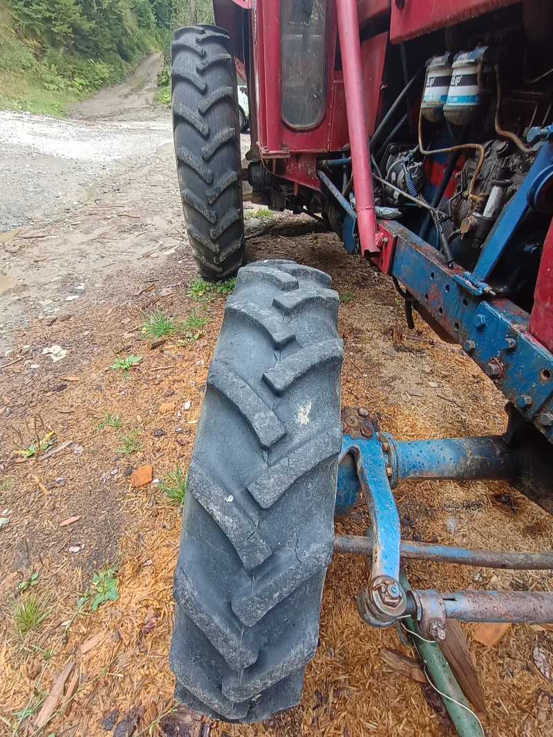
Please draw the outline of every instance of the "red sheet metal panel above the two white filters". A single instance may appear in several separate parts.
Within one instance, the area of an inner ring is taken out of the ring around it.
[[[400,43],[423,33],[453,26],[517,0],[392,0],[390,41]]]

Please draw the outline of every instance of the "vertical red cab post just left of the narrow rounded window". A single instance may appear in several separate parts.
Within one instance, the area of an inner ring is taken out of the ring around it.
[[[265,41],[265,119],[267,148],[279,151],[280,144],[280,3],[263,3],[263,39]]]

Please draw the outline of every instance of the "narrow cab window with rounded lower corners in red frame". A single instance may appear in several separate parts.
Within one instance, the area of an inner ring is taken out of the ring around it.
[[[280,104],[292,128],[324,113],[327,0],[280,0]]]

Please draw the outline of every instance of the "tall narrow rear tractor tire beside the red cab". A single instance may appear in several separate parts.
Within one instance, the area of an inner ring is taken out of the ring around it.
[[[192,256],[204,279],[245,262],[240,118],[229,35],[215,26],[175,32],[173,135]]]

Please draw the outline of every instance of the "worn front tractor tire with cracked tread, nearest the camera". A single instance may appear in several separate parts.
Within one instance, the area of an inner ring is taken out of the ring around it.
[[[238,272],[198,422],[175,570],[175,696],[228,722],[291,708],[319,635],[341,447],[338,294]]]

